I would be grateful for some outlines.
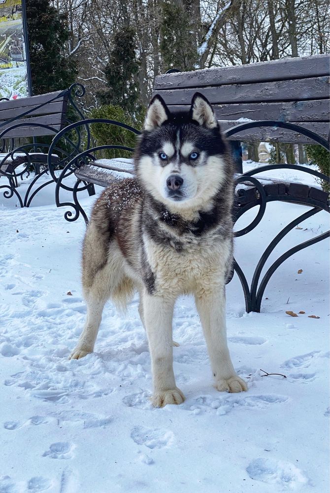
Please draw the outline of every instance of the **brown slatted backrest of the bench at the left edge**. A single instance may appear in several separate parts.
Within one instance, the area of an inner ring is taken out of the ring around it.
[[[51,92],[40,96],[31,96],[12,101],[0,101],[0,135],[4,129],[17,123],[27,123],[9,130],[3,135],[7,137],[31,137],[53,135],[63,128],[66,122],[66,107],[68,95],[61,95],[63,91]],[[50,100],[54,100],[49,103]],[[25,112],[31,113],[21,116]],[[8,121],[17,118],[14,121]],[[51,126],[40,127],[36,124]]]

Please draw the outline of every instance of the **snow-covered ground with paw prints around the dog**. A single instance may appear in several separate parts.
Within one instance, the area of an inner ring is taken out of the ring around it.
[[[278,269],[261,313],[246,314],[236,276],[229,284],[229,345],[246,393],[212,386],[193,300],[179,299],[174,371],[186,401],[153,409],[136,298],[126,314],[108,303],[96,352],[67,359],[86,313],[85,225],[64,220],[51,186],[40,193],[30,209],[0,198],[0,492],[329,492],[328,242]],[[306,209],[268,204],[259,227],[237,239],[248,277],[267,241]],[[300,224],[270,261],[328,223],[322,212]]]

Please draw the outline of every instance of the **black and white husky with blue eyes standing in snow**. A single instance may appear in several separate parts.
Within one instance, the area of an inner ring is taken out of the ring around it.
[[[87,320],[71,358],[93,352],[104,303],[134,291],[146,329],[156,407],[181,404],[173,373],[172,316],[195,296],[216,388],[247,390],[227,346],[225,284],[232,263],[233,165],[207,99],[171,114],[156,95],[134,156],[136,178],[105,189],[88,225],[82,258]]]

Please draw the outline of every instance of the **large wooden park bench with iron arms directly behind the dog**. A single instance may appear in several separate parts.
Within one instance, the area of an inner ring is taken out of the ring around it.
[[[215,109],[226,137],[235,142],[233,154],[238,161],[240,142],[271,141],[301,144],[321,144],[329,150],[329,57],[320,55],[262,62],[246,66],[205,69],[186,73],[171,73],[156,77],[154,94],[160,94],[172,111],[189,108],[195,92],[204,94]],[[243,122],[242,122],[243,120]],[[88,126],[95,119],[83,120],[76,125]],[[124,126],[120,122],[99,120]],[[70,127],[68,127],[70,128]],[[138,133],[135,129],[129,128]],[[56,145],[62,137],[60,132],[53,141]],[[238,144],[237,144],[238,143]],[[52,151],[52,146],[50,152]],[[120,146],[109,145],[120,149]],[[128,148],[122,148],[128,149]],[[131,176],[132,164],[117,160],[96,159],[99,148],[85,148],[66,164],[66,169],[77,177],[73,191],[73,203],[61,202],[62,178],[57,183],[56,203],[74,209],[67,211],[68,221],[75,221],[80,214],[88,222],[87,215],[79,203],[78,192],[94,192],[94,184],[106,187],[118,179],[118,173]],[[238,263],[234,262],[244,291],[246,310],[260,311],[264,289],[275,270],[291,255],[329,236],[329,231],[301,243],[281,255],[261,279],[265,262],[278,242],[299,223],[322,211],[329,212],[329,195],[321,187],[289,183],[269,176],[258,177],[264,171],[291,168],[304,171],[329,183],[329,176],[306,166],[280,164],[265,165],[236,175],[234,220],[251,208],[259,207],[252,222],[235,232],[242,236],[253,230],[264,216],[266,204],[271,201],[287,201],[307,205],[311,209],[280,231],[265,249],[253,275],[251,285]],[[121,170],[121,171],[118,171]]]

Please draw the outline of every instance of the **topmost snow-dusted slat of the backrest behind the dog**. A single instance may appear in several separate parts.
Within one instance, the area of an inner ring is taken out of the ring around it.
[[[184,87],[206,87],[233,83],[266,82],[327,76],[330,71],[329,55],[316,55],[284,60],[214,67],[212,69],[164,74],[155,78],[154,92]]]

